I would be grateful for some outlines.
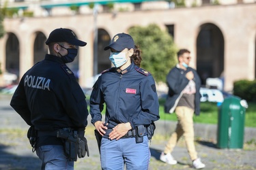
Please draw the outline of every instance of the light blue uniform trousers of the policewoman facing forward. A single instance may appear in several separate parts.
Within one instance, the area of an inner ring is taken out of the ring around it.
[[[135,137],[110,140],[102,138],[100,146],[100,161],[102,169],[146,170],[150,164],[150,148],[147,136],[142,143],[136,143]]]

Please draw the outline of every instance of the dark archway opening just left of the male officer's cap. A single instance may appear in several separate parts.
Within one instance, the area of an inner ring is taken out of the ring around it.
[[[33,64],[38,63],[44,59],[48,48],[45,44],[46,36],[44,33],[38,31],[35,33],[35,41],[33,44]]]

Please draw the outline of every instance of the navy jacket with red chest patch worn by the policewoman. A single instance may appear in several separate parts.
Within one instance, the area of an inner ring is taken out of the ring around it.
[[[126,122],[134,129],[160,118],[154,78],[134,63],[123,71],[113,67],[102,72],[91,92],[92,124],[102,121],[103,103],[106,103],[105,122],[109,129]]]

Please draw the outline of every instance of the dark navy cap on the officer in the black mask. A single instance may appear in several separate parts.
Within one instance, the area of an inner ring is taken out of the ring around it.
[[[45,44],[48,45],[52,42],[68,42],[74,46],[85,46],[87,43],[76,38],[71,29],[55,29],[53,30]]]

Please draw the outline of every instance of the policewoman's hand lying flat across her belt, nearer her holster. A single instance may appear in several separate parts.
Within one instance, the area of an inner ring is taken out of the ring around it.
[[[132,129],[132,126],[130,126],[130,122],[117,124],[117,126],[113,128],[113,131],[109,133],[109,139],[118,140],[126,135],[126,133],[128,133],[130,129]]]

